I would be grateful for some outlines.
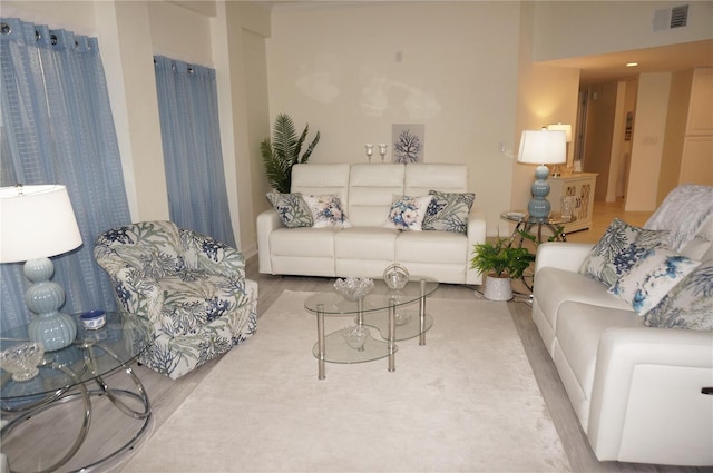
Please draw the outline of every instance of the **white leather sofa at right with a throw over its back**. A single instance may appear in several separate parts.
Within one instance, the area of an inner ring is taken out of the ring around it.
[[[668,220],[694,219],[671,207]],[[687,248],[705,262],[713,217],[703,221]],[[540,245],[533,319],[596,457],[713,465],[713,395],[702,392],[713,386],[713,332],[645,325],[606,285],[578,273],[592,246]]]

